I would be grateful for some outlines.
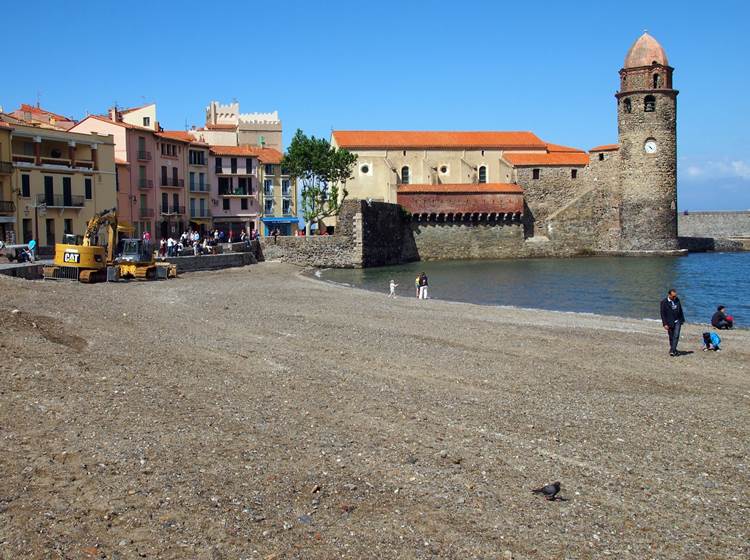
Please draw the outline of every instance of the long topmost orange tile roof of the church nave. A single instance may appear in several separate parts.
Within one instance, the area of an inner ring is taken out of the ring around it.
[[[341,148],[546,148],[532,132],[439,132],[335,130],[333,138]]]

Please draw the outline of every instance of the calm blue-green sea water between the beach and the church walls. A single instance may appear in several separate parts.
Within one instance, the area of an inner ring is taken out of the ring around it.
[[[432,298],[658,319],[659,300],[674,287],[688,321],[708,322],[723,304],[740,326],[750,323],[750,253],[433,261],[326,270],[322,277],[383,293],[393,278],[399,295],[413,297],[420,271],[429,277]]]

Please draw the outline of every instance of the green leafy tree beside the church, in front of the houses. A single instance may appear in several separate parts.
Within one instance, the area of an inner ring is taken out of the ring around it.
[[[308,137],[297,130],[281,166],[302,181],[302,216],[307,235],[310,235],[312,224],[337,216],[341,211],[349,194],[346,182],[353,176],[356,161],[356,154],[334,148],[328,140]]]

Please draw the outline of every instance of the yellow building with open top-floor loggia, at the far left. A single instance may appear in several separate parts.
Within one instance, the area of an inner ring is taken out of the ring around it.
[[[5,198],[3,187],[3,200],[14,202],[16,242],[36,239],[40,247],[52,248],[66,233],[83,234],[96,212],[117,206],[112,136],[7,122],[11,118],[2,117],[11,127],[13,166],[12,197]]]

